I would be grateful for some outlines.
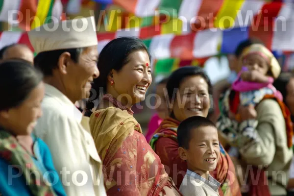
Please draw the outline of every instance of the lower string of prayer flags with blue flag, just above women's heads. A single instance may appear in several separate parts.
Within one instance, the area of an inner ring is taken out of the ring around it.
[[[191,60],[219,53],[232,53],[240,41],[252,36],[263,40],[271,50],[293,51],[294,33],[289,30],[289,34],[284,36],[287,32],[264,31],[263,29],[252,31],[248,28],[233,28],[230,31],[206,29],[187,35],[174,35],[159,34],[157,31],[149,31],[149,27],[146,27],[132,28],[115,33],[98,33],[97,37],[99,51],[112,39],[121,36],[133,36],[144,41],[155,59],[180,58],[182,60]],[[21,33],[3,32],[0,39],[3,40],[2,36],[6,34],[15,36]],[[27,42],[29,41],[27,40]],[[0,41],[0,46],[2,45],[2,41]]]

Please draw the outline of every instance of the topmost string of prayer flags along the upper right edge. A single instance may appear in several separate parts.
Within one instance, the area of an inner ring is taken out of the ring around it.
[[[187,24],[191,31],[204,29],[208,27],[214,28],[230,28],[230,27],[246,27],[252,23],[257,26],[271,25],[276,17],[284,17],[283,20],[291,21],[293,18],[294,2],[292,0],[154,0],[148,1],[147,4],[140,4],[139,1],[145,0],[129,0],[123,3],[123,0],[113,0],[113,2],[123,9],[117,13],[115,17],[126,18],[132,14],[139,17],[140,27],[146,25],[154,25],[155,21],[167,16],[171,21],[181,19],[181,23]],[[151,5],[150,5],[151,4]],[[159,4],[155,7],[156,4]],[[113,5],[109,5],[109,11]],[[147,11],[141,11],[148,8]],[[119,8],[116,7],[115,10]],[[124,11],[126,10],[126,11]],[[131,13],[131,14],[130,14]],[[147,14],[145,14],[147,13]],[[115,19],[114,19],[115,20]],[[162,21],[166,24],[168,21]],[[122,24],[118,26],[124,28],[127,26],[128,20],[121,20]],[[189,25],[191,23],[191,25]],[[118,30],[116,29],[116,30]]]

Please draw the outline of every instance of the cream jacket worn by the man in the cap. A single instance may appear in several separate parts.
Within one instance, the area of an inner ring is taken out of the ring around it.
[[[68,196],[106,196],[102,163],[87,118],[60,91],[45,85],[43,116],[35,134],[49,146]],[[85,128],[82,126],[84,124]]]

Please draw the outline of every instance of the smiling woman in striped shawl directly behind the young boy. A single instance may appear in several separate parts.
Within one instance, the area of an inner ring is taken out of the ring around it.
[[[175,185],[180,187],[187,171],[187,163],[178,155],[177,127],[192,116],[207,117],[210,108],[212,86],[208,76],[199,67],[182,67],[171,74],[167,83],[170,101],[170,117],[155,131],[151,147],[165,165]],[[220,145],[221,156],[211,175],[219,182],[220,196],[241,196],[235,167],[229,155]]]

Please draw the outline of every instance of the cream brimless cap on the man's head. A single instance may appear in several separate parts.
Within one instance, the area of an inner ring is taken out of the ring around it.
[[[27,34],[36,53],[98,45],[93,16],[52,22],[28,31]]]

